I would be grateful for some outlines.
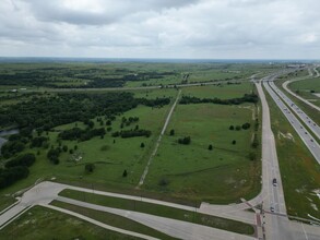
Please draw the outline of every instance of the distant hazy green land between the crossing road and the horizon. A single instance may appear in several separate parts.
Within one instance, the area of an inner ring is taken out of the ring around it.
[[[0,83],[0,89],[20,89],[25,87],[27,89],[86,87],[91,86],[96,80],[104,79],[116,82],[123,81],[123,85],[127,87],[167,85],[181,83],[183,76],[187,74],[189,74],[188,82],[190,83],[244,80],[257,72],[263,74],[277,69],[278,67],[280,65],[262,63],[232,64],[218,62],[0,63],[0,75],[1,79],[5,81],[2,85]],[[24,81],[25,79],[29,82]],[[12,84],[10,84],[10,81]],[[120,85],[122,85],[122,83]],[[107,84],[107,86],[114,87],[119,86],[119,84]]]

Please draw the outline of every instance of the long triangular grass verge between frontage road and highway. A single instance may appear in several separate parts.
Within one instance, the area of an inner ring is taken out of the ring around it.
[[[266,98],[288,215],[308,218],[310,214],[320,218],[320,200],[316,195],[320,189],[320,167],[271,97]],[[294,141],[280,133],[291,133]]]

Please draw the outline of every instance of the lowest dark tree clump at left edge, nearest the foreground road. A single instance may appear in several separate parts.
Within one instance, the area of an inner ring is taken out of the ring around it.
[[[28,167],[36,160],[34,154],[17,156],[4,164],[5,168],[0,168],[0,189],[11,185],[20,179],[28,176]]]

